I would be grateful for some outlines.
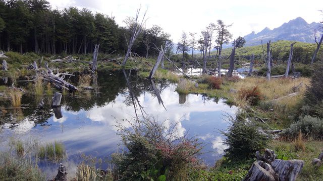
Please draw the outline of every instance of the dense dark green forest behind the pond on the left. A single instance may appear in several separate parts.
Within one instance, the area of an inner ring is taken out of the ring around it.
[[[125,54],[134,19],[119,26],[114,17],[75,7],[53,10],[45,0],[0,0],[0,49],[20,53],[80,54],[100,52]],[[126,40],[127,39],[127,40]],[[172,50],[170,35],[157,25],[141,31],[132,52],[153,56],[155,46]]]

